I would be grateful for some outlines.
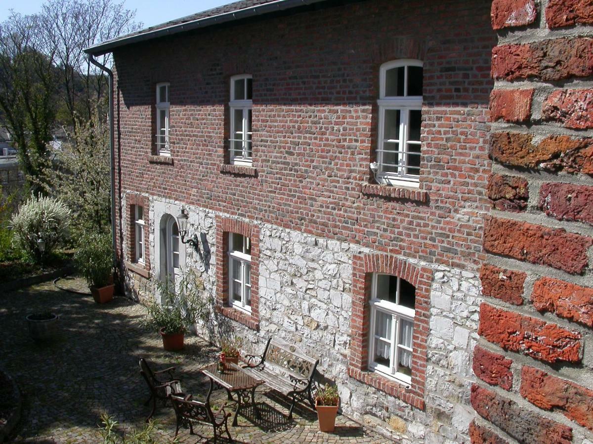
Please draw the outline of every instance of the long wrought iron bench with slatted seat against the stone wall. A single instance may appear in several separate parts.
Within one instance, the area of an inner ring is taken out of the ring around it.
[[[296,346],[268,339],[262,355],[247,355],[247,368],[244,371],[256,379],[264,379],[268,387],[292,398],[288,418],[297,400],[308,400],[315,408],[311,394],[313,375],[319,359],[302,353]]]

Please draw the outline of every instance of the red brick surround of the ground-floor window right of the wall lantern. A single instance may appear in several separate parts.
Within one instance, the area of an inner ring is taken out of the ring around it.
[[[228,233],[251,240],[251,315],[229,307]],[[259,227],[246,221],[216,217],[216,309],[253,330],[259,330]]]

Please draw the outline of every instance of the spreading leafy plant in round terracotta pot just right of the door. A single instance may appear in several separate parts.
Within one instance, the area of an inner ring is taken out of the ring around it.
[[[157,281],[155,292],[160,295],[161,303],[152,300],[146,305],[148,317],[144,324],[157,330],[165,350],[181,350],[185,333],[196,319],[208,321],[211,298],[205,296],[204,285],[193,271],[182,272],[177,284],[168,276],[164,281]]]

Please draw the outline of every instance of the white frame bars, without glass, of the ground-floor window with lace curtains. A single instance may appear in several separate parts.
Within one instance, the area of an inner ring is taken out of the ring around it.
[[[400,334],[400,320],[406,320],[411,322],[414,325],[414,318],[416,316],[416,310],[409,307],[404,307],[403,305],[398,304],[400,298],[400,282],[401,279],[397,277],[397,303],[393,303],[391,301],[382,300],[377,297],[377,276],[379,275],[386,275],[384,273],[374,273],[372,275],[372,285],[371,285],[371,298],[369,301],[370,309],[371,309],[371,325],[369,328],[369,369],[386,376],[388,378],[394,379],[397,382],[400,382],[405,385],[412,384],[412,376],[406,375],[401,372],[397,371],[397,363],[399,362],[399,350],[400,348],[403,350],[407,350],[412,354],[412,359],[414,355],[413,348],[408,348],[404,345],[400,345],[399,342],[399,334]],[[390,366],[385,366],[380,363],[374,361],[375,357],[375,338],[378,337],[375,334],[375,320],[377,318],[377,312],[381,311],[381,313],[385,313],[391,316],[391,334],[390,338],[385,342],[389,342],[391,344],[391,355],[390,355]],[[413,329],[412,327],[412,336],[413,336]]]

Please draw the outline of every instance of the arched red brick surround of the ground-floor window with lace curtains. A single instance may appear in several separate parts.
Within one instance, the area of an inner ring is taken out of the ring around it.
[[[412,384],[406,387],[368,369],[369,325],[372,274],[398,276],[416,288],[414,319]],[[414,407],[424,409],[426,381],[426,340],[429,330],[429,308],[432,269],[413,265],[394,256],[372,253],[355,255],[352,261],[352,319],[348,375],[372,385]]]

